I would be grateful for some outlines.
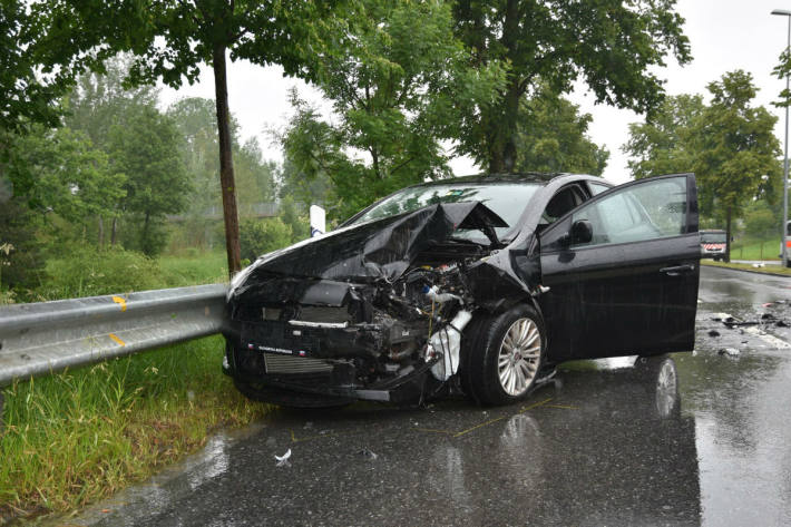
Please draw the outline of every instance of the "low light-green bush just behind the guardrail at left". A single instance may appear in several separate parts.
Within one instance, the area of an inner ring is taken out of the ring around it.
[[[146,291],[166,286],[159,264],[135,251],[76,246],[47,262],[43,299],[69,299]]]

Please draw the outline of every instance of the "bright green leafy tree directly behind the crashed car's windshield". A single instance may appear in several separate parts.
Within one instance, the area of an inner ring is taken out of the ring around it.
[[[458,136],[459,107],[482,105],[497,65],[468,67],[443,2],[361,0],[344,40],[318,68],[336,121],[291,95],[286,157],[307,178],[326,174],[348,216],[408,184],[449,174],[440,139]]]

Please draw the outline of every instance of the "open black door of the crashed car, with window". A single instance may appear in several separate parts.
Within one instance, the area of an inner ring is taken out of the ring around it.
[[[691,351],[701,248],[692,174],[614,187],[540,234],[553,362]]]

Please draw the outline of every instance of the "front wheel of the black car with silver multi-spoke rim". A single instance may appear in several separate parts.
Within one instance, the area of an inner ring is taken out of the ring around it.
[[[509,404],[534,388],[546,350],[544,321],[528,305],[489,316],[469,335],[462,375],[471,396],[486,404]]]

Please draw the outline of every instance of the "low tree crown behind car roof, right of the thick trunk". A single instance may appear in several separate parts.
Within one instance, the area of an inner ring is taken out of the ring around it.
[[[609,152],[587,137],[590,114],[547,91],[523,100],[516,139],[518,172],[572,172],[600,176]]]

